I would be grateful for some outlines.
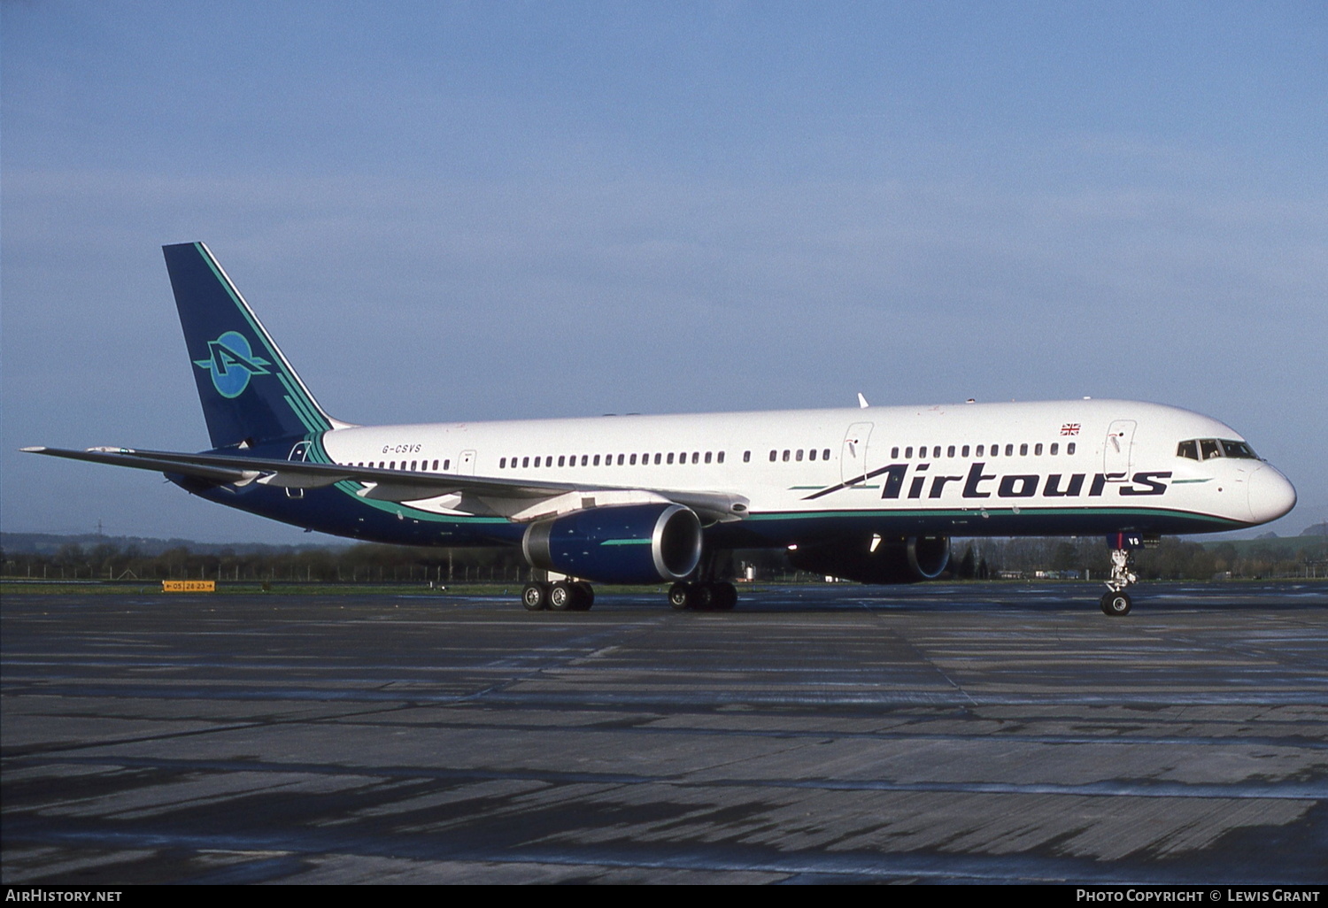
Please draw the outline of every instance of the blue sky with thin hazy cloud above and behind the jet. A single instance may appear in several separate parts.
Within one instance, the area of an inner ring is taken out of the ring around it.
[[[1328,519],[1328,7],[0,4],[0,526],[308,542],[206,446],[202,239],[355,422],[1126,397]]]

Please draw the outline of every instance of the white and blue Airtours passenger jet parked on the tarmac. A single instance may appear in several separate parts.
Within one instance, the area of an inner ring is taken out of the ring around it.
[[[211,449],[25,451],[154,470],[339,536],[519,546],[564,577],[530,583],[531,611],[587,609],[590,581],[663,581],[675,608],[729,609],[736,548],[908,583],[940,576],[951,536],[1101,534],[1102,611],[1127,615],[1135,548],[1296,502],[1234,429],[1137,401],[351,425],[319,406],[206,246],[165,254]]]

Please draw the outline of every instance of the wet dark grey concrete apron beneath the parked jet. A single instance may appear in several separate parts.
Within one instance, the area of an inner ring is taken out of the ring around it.
[[[7,595],[5,883],[1328,881],[1328,584]]]

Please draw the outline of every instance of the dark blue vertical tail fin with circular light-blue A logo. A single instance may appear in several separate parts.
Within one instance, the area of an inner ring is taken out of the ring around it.
[[[212,447],[332,429],[211,251],[179,243],[162,252]]]

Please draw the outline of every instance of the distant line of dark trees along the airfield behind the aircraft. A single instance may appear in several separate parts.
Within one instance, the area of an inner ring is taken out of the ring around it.
[[[1214,576],[1325,576],[1324,543],[1312,536],[1276,540],[1280,544],[1219,543],[1202,546],[1165,538],[1159,547],[1135,552],[1135,569],[1146,580],[1207,580]],[[1292,543],[1292,544],[1288,544]],[[68,543],[53,554],[0,551],[3,575],[48,580],[231,580],[304,583],[523,583],[531,569],[518,548],[416,548],[357,544],[345,547],[267,548],[236,551],[187,546],[146,554],[113,540],[84,546]],[[955,540],[944,579],[983,580],[1037,572],[1050,576],[1101,579],[1108,551],[1098,536],[1081,539],[1016,538]],[[811,580],[795,572],[782,550],[733,554],[733,573],[748,567],[758,580]]]

